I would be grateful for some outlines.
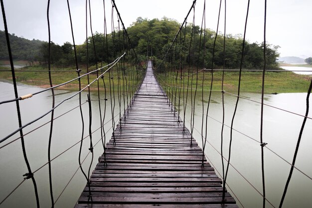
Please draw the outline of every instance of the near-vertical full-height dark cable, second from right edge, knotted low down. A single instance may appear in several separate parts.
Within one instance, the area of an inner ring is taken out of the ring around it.
[[[265,177],[264,177],[264,152],[263,148],[266,145],[263,143],[263,101],[264,101],[264,79],[267,67],[266,60],[266,23],[267,23],[267,0],[264,5],[264,41],[263,41],[263,72],[262,72],[262,91],[261,91],[261,119],[260,119],[260,143],[261,143],[261,171],[262,171],[262,189],[263,189],[263,208],[266,207],[266,189],[265,189]]]

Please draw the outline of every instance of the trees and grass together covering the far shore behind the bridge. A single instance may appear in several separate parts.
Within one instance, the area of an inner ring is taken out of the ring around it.
[[[127,28],[128,34],[132,41],[132,46],[138,54],[138,62],[144,63],[148,58],[147,50],[149,48],[149,56],[153,56],[154,65],[157,66],[164,57],[168,50],[171,41],[173,40],[176,31],[179,29],[180,23],[175,20],[163,17],[162,19],[144,19],[137,18],[133,24]],[[187,24],[182,30],[182,35],[185,36],[184,46],[190,45],[190,40],[194,43],[200,42],[200,27],[195,26],[192,30],[192,25]],[[184,48],[185,63],[192,58],[192,63],[196,66],[200,63],[202,68],[210,68],[212,65],[214,69],[223,67],[223,34],[218,34],[215,45],[214,62],[212,63],[212,48],[215,39],[215,31],[206,29],[206,38],[204,44],[192,44],[191,50]],[[86,72],[86,65],[88,63],[89,70],[96,68],[96,63],[112,62],[122,50],[125,50],[126,44],[124,43],[124,36],[122,32],[113,31],[110,34],[103,34],[95,32],[92,36],[88,37],[81,45],[76,45],[77,61],[79,68],[83,69],[82,73]],[[94,44],[93,44],[94,40]],[[104,41],[105,40],[105,41]],[[40,40],[27,40],[10,35],[12,54],[15,63],[27,65],[16,71],[16,80],[29,85],[37,85],[41,87],[49,86],[47,63],[48,63],[48,43]],[[187,42],[188,41],[188,42]],[[87,45],[88,43],[88,56]],[[226,52],[225,52],[225,67],[226,69],[237,69],[240,66],[241,48],[243,39],[241,35],[226,35]],[[204,46],[203,46],[204,45]],[[95,46],[95,48],[94,48]],[[206,47],[205,56],[198,54],[199,47]],[[0,31],[0,64],[8,64],[7,48],[5,42],[4,32]],[[267,69],[279,69],[277,58],[279,46],[267,44]],[[95,55],[97,54],[97,56]],[[167,56],[170,58],[170,56]],[[23,60],[23,61],[21,61]],[[18,61],[18,62],[16,62]],[[63,45],[58,45],[51,42],[51,59],[52,64],[51,76],[54,85],[63,83],[65,81],[77,77],[75,72],[75,54],[73,45],[70,42],[65,42]],[[245,42],[245,53],[243,69],[255,70],[263,69],[263,43]],[[0,70],[8,70],[9,68],[1,67]],[[44,72],[39,72],[45,70]],[[113,77],[120,77],[116,70]],[[194,72],[192,72],[194,73]],[[205,74],[204,74],[205,73]],[[193,74],[194,75],[194,74]],[[237,71],[225,72],[224,88],[226,91],[236,92],[238,86]],[[198,73],[198,88],[201,88],[202,77],[204,79],[204,89],[210,86],[211,72],[200,71]],[[183,75],[183,81],[186,83],[188,75],[186,70]],[[0,71],[0,78],[11,80],[11,73],[9,71]],[[96,78],[95,74],[90,75],[90,80]],[[108,74],[104,76],[105,82],[109,83],[110,79]],[[167,78],[169,79],[169,78]],[[114,84],[118,83],[115,79]],[[242,72],[241,90],[245,92],[260,92],[261,91],[262,72],[260,71],[244,71]],[[293,72],[266,72],[265,79],[265,92],[266,93],[282,93],[282,92],[306,92],[309,86],[311,77],[305,75],[298,75]],[[111,80],[112,81],[112,80]],[[213,89],[220,90],[222,81],[222,72],[214,72]],[[81,78],[82,86],[88,84],[87,77]],[[101,82],[102,83],[102,82]],[[103,85],[103,83],[102,83]],[[192,89],[195,89],[195,83],[192,84]],[[63,89],[77,90],[78,81],[65,85]]]

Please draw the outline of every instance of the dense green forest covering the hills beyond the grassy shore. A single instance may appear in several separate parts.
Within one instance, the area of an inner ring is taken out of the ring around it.
[[[140,60],[147,59],[147,49],[150,48],[150,54],[153,50],[153,57],[157,63],[164,57],[176,32],[180,27],[180,23],[175,20],[163,17],[162,19],[144,19],[137,18],[133,24],[127,28],[127,32],[131,39],[132,46]],[[188,57],[199,57],[196,60],[202,63],[206,68],[211,66],[212,47],[215,39],[215,31],[206,29],[205,43],[199,44],[201,28],[188,24],[182,30],[185,36],[184,45],[189,45],[190,40],[193,41],[192,49],[184,48],[185,61],[190,60]],[[203,32],[202,32],[203,33]],[[191,38],[192,34],[192,38]],[[29,64],[46,64],[48,58],[48,43],[40,40],[27,40],[11,34],[9,36],[13,58],[16,60],[28,60]],[[121,50],[126,47],[125,33],[123,31],[114,31],[107,36],[103,33],[95,32],[88,38],[88,59],[90,64],[96,62],[108,62],[116,58]],[[93,44],[94,40],[94,44]],[[187,42],[188,41],[188,42]],[[241,59],[243,39],[240,35],[226,35],[226,51],[225,65],[226,68],[238,68]],[[94,53],[94,46],[96,53]],[[201,46],[199,46],[201,45]],[[108,47],[106,47],[108,46]],[[206,48],[205,57],[198,54],[199,47]],[[87,50],[86,41],[76,46],[78,62],[86,64]],[[95,56],[97,54],[97,56]],[[267,45],[267,64],[270,69],[278,68],[277,58],[279,57],[278,46]],[[0,31],[0,59],[8,59],[5,34]],[[196,64],[196,60],[192,61]],[[51,63],[58,66],[71,66],[74,64],[74,49],[70,42],[63,45],[51,43]],[[214,66],[221,67],[223,65],[223,34],[218,34],[215,46]],[[244,68],[262,69],[263,68],[263,43],[245,43]]]

